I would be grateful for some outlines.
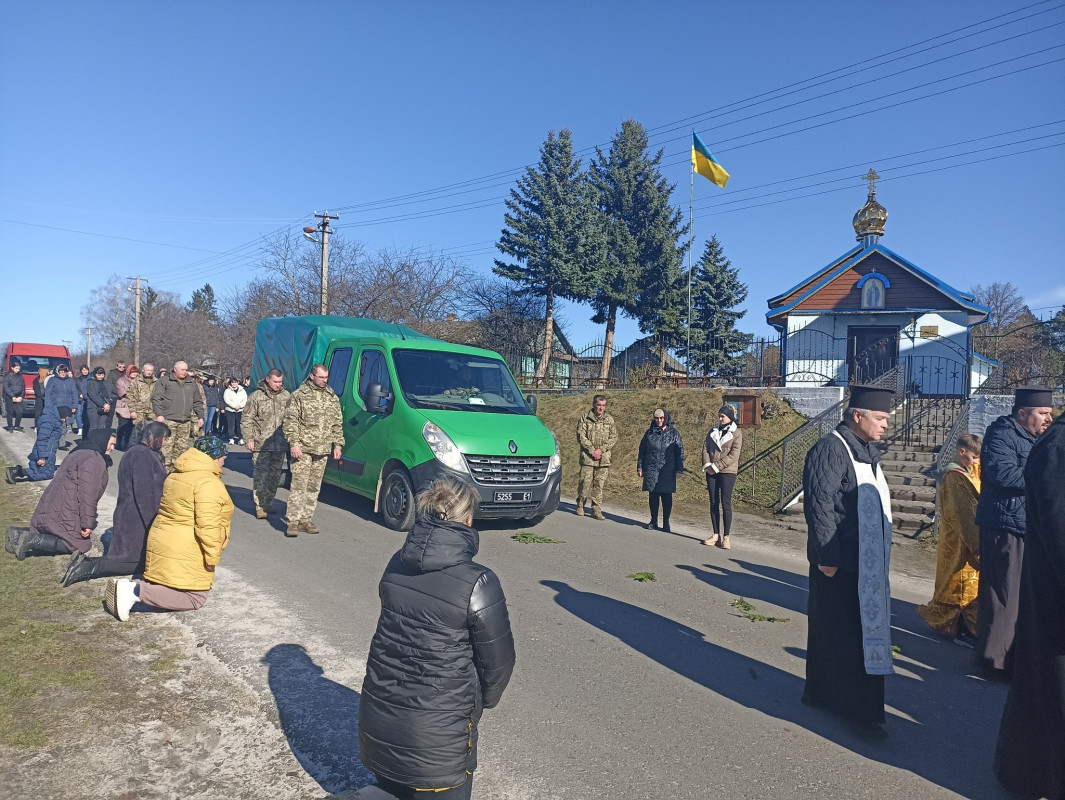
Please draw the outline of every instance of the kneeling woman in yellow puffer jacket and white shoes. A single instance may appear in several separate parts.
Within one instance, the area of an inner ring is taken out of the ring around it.
[[[222,483],[227,454],[220,439],[204,436],[174,462],[148,532],[144,579],[108,583],[104,604],[122,622],[138,602],[170,611],[194,611],[207,603],[233,517]]]

